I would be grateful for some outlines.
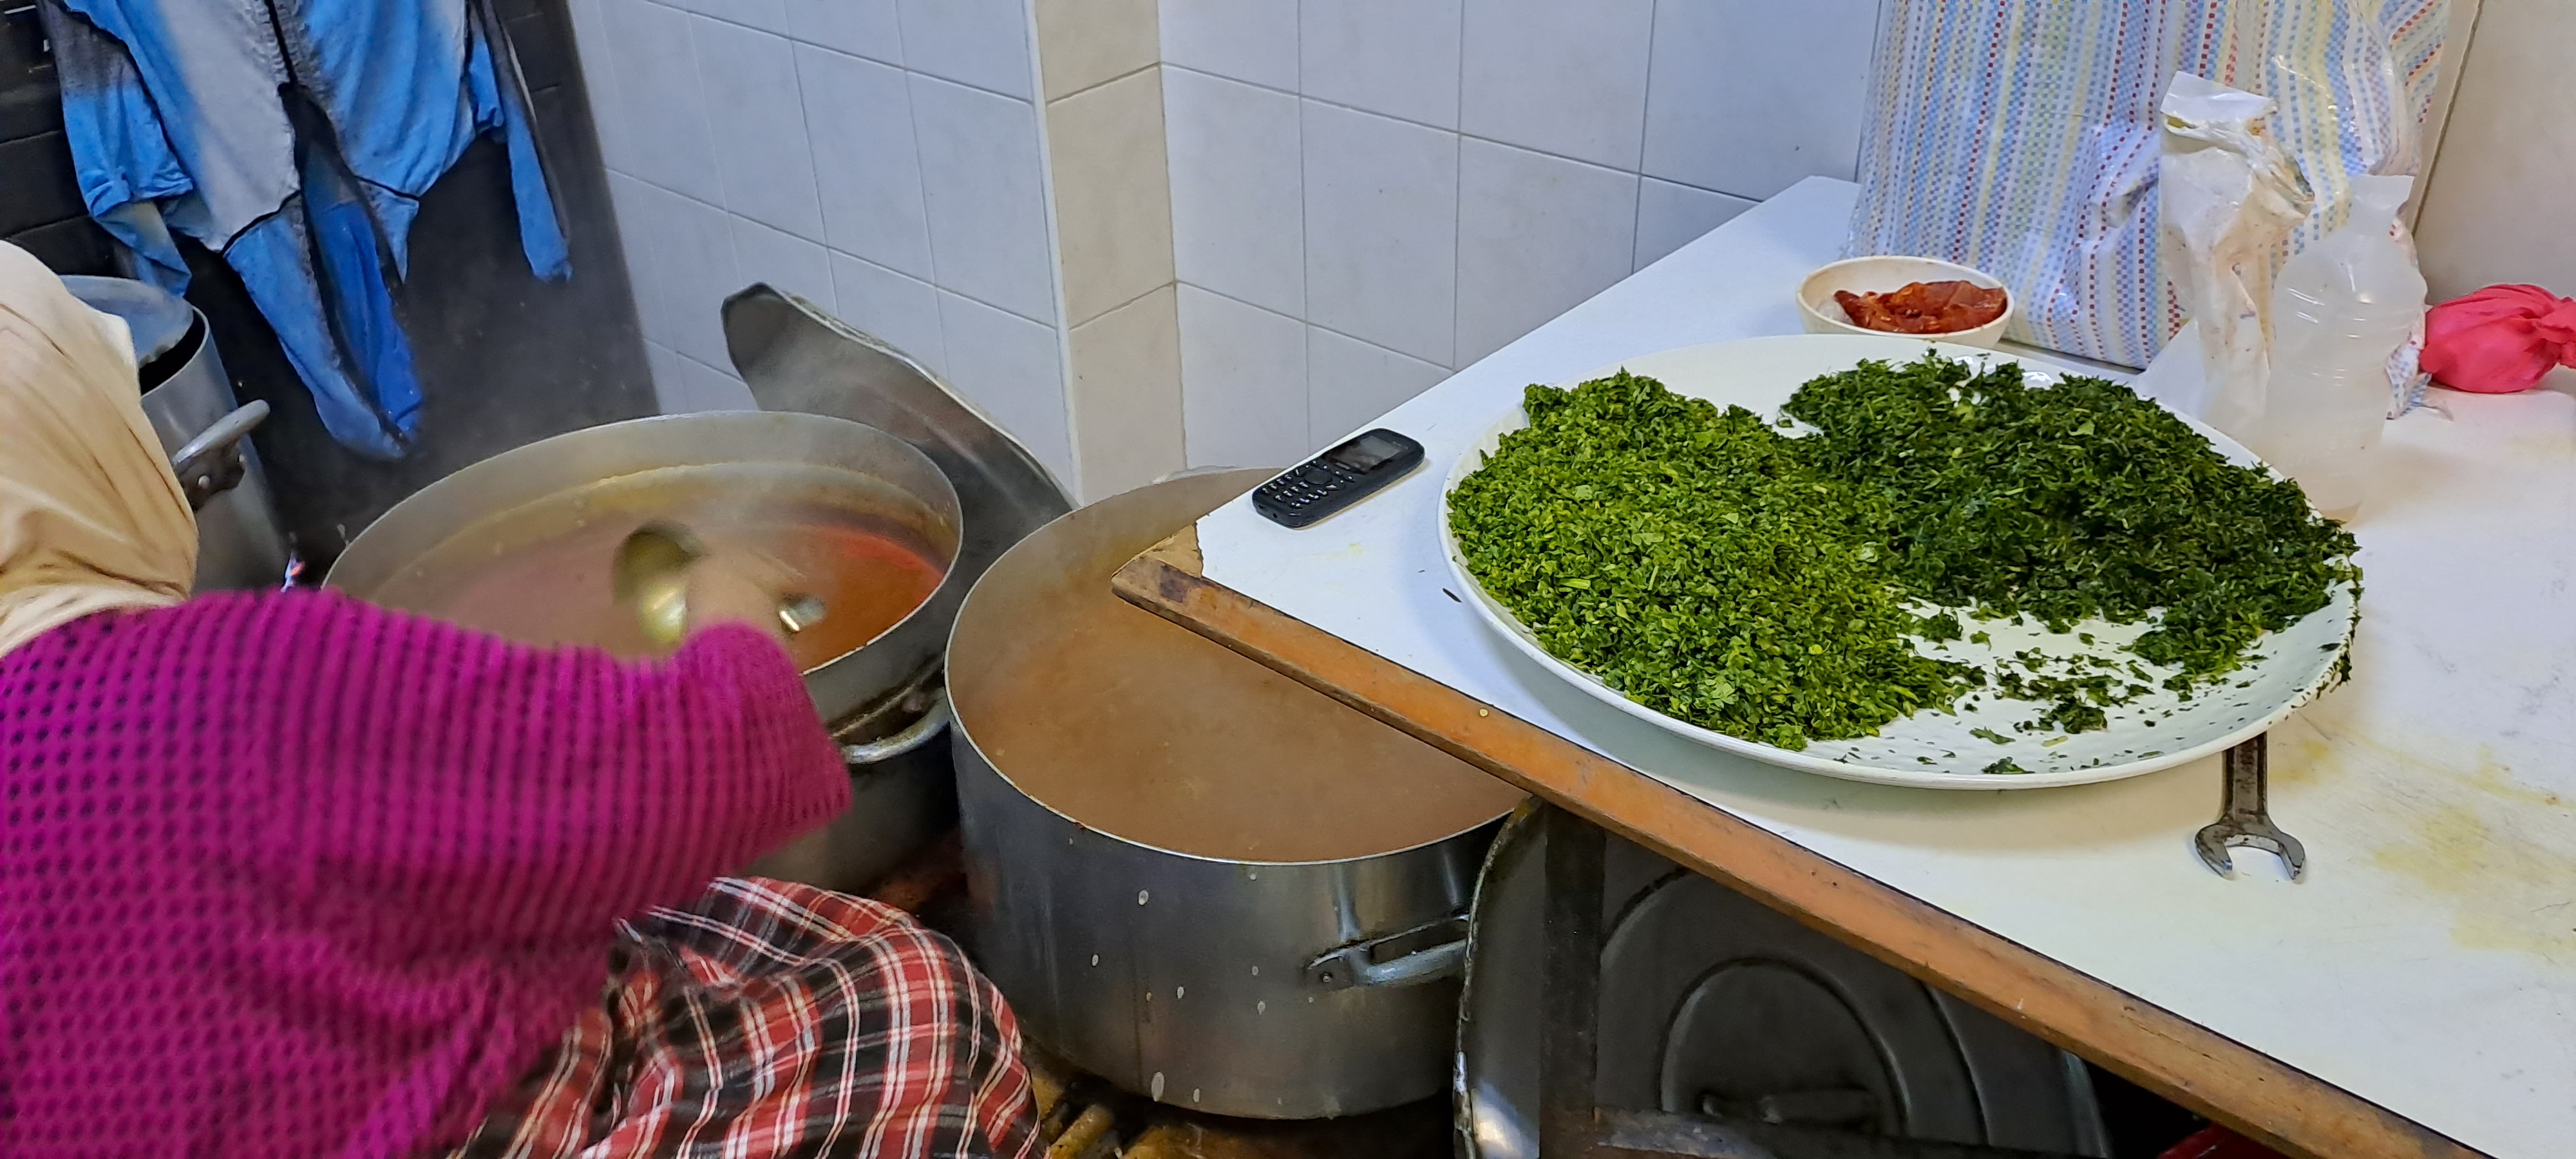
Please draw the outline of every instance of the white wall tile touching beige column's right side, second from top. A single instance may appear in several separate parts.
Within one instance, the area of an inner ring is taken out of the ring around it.
[[[1164,67],[1172,268],[1218,294],[1306,314],[1298,98]]]

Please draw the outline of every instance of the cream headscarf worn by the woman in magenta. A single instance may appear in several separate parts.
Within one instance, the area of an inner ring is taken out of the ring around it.
[[[0,654],[106,608],[188,598],[196,515],[124,319],[0,242]]]

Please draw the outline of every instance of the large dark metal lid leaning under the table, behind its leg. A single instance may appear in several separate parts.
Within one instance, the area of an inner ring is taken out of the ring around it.
[[[1486,855],[1458,1017],[1458,1128],[1476,1159],[1538,1154],[1546,834],[1522,809]],[[2102,1156],[2084,1066],[2002,1020],[1633,842],[1602,858],[1597,1100]]]

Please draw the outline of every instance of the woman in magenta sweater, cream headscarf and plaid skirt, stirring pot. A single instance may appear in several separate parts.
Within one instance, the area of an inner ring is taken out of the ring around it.
[[[742,580],[621,662],[193,556],[124,325],[0,242],[0,1154],[1036,1151],[953,945],[726,876],[850,796]]]

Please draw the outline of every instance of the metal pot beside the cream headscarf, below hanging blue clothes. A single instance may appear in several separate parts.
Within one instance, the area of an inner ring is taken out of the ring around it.
[[[268,404],[234,399],[206,314],[131,278],[67,276],[62,283],[90,309],[124,319],[134,337],[144,417],[196,507],[196,590],[286,582],[286,531],[250,448]]]

